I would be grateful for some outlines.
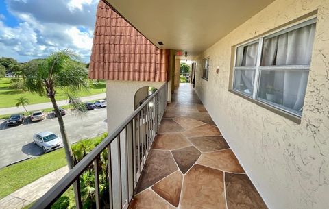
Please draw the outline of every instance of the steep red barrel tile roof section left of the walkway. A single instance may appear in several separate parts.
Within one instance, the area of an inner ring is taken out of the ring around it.
[[[167,81],[167,49],[158,49],[103,1],[96,17],[91,79]]]

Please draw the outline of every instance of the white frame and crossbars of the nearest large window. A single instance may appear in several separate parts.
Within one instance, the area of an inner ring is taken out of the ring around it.
[[[291,32],[294,29],[298,29],[301,27],[304,27],[306,25],[310,25],[313,23],[317,22],[317,16],[310,16],[307,19],[304,19],[302,21],[298,21],[297,23],[294,23],[292,25],[288,25],[286,27],[282,27],[280,29],[277,29],[274,32],[271,32],[269,34],[265,34],[263,36],[260,36],[258,38],[255,38],[253,40],[250,40],[248,42],[243,42],[243,44],[241,45],[237,45],[235,47],[235,55],[234,55],[234,68],[233,68],[233,82],[232,82],[232,86],[231,89],[238,94],[241,95],[245,95],[246,97],[249,97],[252,100],[255,101],[259,101],[260,103],[265,103],[268,106],[271,106],[273,108],[277,108],[279,110],[282,110],[283,112],[288,112],[289,114],[293,114],[294,116],[297,117],[301,117],[302,114],[299,114],[297,112],[293,112],[290,110],[287,110],[286,108],[282,108],[280,107],[278,104],[276,103],[271,103],[271,101],[267,101],[266,99],[262,99],[257,97],[258,95],[258,90],[259,90],[259,83],[260,83],[260,71],[270,71],[270,70],[276,70],[276,71],[310,71],[310,64],[304,64],[304,65],[282,65],[282,66],[260,66],[260,62],[261,62],[261,58],[262,58],[262,52],[263,52],[263,40],[265,38],[272,38],[274,36],[278,36],[280,34],[284,34],[287,32]],[[256,61],[256,70],[255,70],[255,77],[254,77],[254,89],[253,89],[253,93],[252,93],[252,97],[250,95],[248,95],[247,93],[243,93],[240,90],[236,90],[234,89],[234,84],[235,84],[235,75],[236,75],[236,70],[239,69],[255,69],[255,66],[236,66],[236,53],[237,53],[237,49],[238,47],[244,47],[247,45],[251,45],[255,42],[258,42],[258,51],[257,51],[257,61]]]

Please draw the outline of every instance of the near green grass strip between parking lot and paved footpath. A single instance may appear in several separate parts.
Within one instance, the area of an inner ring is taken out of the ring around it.
[[[96,136],[95,138],[80,140],[72,145],[73,149],[86,140],[102,140],[107,135]],[[0,199],[13,193],[15,190],[38,180],[38,178],[56,171],[66,165],[64,149],[58,149],[0,169]]]

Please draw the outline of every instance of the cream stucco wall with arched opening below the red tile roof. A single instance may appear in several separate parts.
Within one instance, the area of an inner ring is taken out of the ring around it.
[[[138,89],[145,86],[160,88],[165,82],[106,82],[106,101],[108,114],[108,132],[112,132],[132,112],[134,112],[134,97]]]

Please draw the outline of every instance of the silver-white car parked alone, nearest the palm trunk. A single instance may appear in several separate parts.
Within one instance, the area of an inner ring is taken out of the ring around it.
[[[44,152],[47,152],[60,147],[62,138],[52,132],[40,132],[33,135],[33,142],[41,147]]]

